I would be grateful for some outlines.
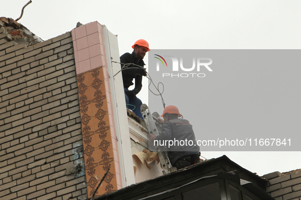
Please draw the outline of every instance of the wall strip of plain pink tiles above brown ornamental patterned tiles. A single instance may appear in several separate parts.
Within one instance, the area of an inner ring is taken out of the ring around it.
[[[79,106],[85,153],[88,196],[91,197],[107,168],[95,196],[122,187],[103,26],[91,22],[72,31]]]

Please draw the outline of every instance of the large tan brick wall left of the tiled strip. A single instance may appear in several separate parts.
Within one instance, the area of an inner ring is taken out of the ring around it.
[[[71,32],[0,43],[0,199],[87,199]]]

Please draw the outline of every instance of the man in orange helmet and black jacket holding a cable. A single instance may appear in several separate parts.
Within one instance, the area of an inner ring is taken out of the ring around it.
[[[126,107],[132,110],[138,117],[143,119],[140,107],[141,100],[136,96],[142,88],[142,76],[146,76],[144,69],[143,58],[146,52],[150,51],[149,44],[146,40],[138,40],[133,45],[132,53],[125,53],[120,56],[122,68],[122,80],[125,94]],[[129,64],[130,63],[130,64]],[[134,89],[129,90],[129,86],[133,85],[135,79]]]

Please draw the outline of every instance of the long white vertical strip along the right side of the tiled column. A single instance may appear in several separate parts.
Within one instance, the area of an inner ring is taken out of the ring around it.
[[[111,60],[119,60],[119,48],[117,36],[112,34],[106,26],[103,26],[103,37],[105,45],[106,63],[110,76],[111,97],[113,103],[115,130],[117,137],[118,155],[120,163],[120,171],[122,178],[122,187],[135,184],[134,170],[132,167],[130,137],[128,131],[127,113],[124,108],[125,97],[122,85],[121,74],[113,77],[116,71],[120,69],[120,65],[112,63]],[[128,133],[128,134],[127,134]]]

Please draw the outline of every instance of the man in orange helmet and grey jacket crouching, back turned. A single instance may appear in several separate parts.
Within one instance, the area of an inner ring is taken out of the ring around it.
[[[151,142],[173,141],[166,143],[165,147],[172,166],[178,170],[200,162],[200,147],[197,145],[193,126],[188,120],[179,119],[180,116],[182,115],[176,106],[167,106],[161,115],[163,120],[158,119],[162,124],[161,133],[159,136],[150,135]]]

